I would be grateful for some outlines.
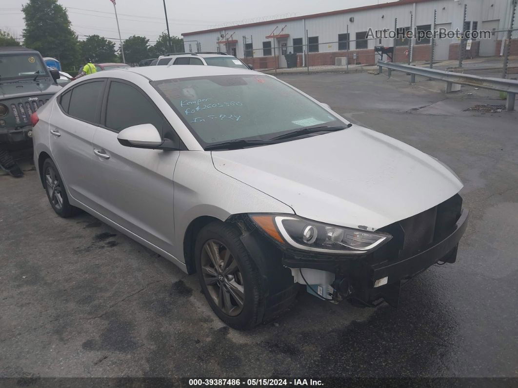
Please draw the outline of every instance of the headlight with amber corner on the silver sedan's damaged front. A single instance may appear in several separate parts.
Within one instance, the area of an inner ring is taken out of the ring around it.
[[[296,215],[250,214],[250,218],[277,242],[312,252],[366,254],[392,238],[388,233],[329,225]]]

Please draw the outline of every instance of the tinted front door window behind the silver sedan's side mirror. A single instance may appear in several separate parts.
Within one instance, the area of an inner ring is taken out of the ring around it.
[[[120,132],[139,124],[153,124],[162,136],[166,122],[140,91],[127,83],[111,82],[106,105],[106,126]]]

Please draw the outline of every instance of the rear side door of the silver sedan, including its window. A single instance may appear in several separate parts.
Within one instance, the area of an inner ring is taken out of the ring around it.
[[[95,209],[92,140],[99,125],[105,79],[81,82],[57,100],[50,120],[52,158],[70,195]]]

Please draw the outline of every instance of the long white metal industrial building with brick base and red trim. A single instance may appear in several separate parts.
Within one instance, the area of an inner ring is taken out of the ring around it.
[[[511,25],[511,0],[399,0],[313,15],[225,26],[183,33],[186,52],[221,51],[256,69],[286,67],[284,54],[297,54],[297,65],[375,63],[375,46],[394,47],[394,61],[458,59],[459,39],[366,39],[369,28],[403,32],[419,30],[506,30]],[[435,20],[434,20],[435,19]],[[516,17],[514,18],[516,19]],[[515,26],[518,21],[515,21]],[[468,55],[502,55],[505,33],[470,42]],[[518,54],[518,39],[511,44]]]

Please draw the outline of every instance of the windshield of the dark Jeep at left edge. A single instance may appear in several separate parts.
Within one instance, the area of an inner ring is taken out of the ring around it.
[[[37,74],[48,77],[47,67],[34,54],[0,55],[0,77],[2,80],[34,78]]]

